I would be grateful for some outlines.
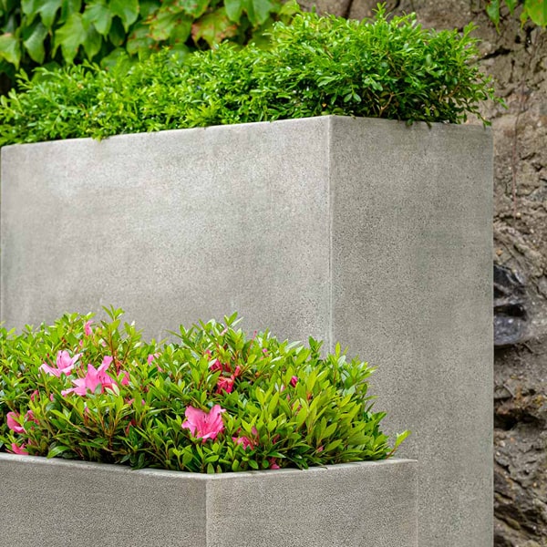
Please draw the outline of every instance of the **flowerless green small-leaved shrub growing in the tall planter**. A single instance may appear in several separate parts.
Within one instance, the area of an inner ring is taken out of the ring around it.
[[[221,44],[181,62],[161,52],[19,77],[0,100],[0,144],[182,129],[325,114],[461,122],[494,98],[472,26],[435,32],[414,15],[359,23],[296,15],[271,46]]]

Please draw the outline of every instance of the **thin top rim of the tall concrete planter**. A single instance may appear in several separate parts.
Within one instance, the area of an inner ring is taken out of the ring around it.
[[[309,121],[309,120],[317,120],[317,119],[325,119],[325,120],[336,120],[336,119],[345,119],[345,120],[356,120],[360,123],[367,123],[367,124],[392,124],[392,125],[399,125],[406,127],[408,130],[419,130],[419,129],[440,129],[447,131],[481,131],[481,132],[491,132],[491,127],[485,126],[483,124],[479,123],[443,123],[443,122],[427,122],[427,121],[414,121],[412,124],[407,125],[407,121],[404,119],[386,119],[386,118],[360,118],[357,116],[343,116],[338,114],[328,114],[326,116],[310,116],[307,118],[290,118],[290,119],[275,119],[274,121],[248,121],[244,123],[235,123],[235,124],[223,124],[223,125],[212,125],[212,126],[206,126],[206,127],[197,127],[197,128],[185,128],[185,129],[161,129],[160,131],[149,131],[149,132],[139,132],[139,133],[120,133],[117,135],[112,135],[110,137],[105,137],[104,139],[93,139],[91,137],[76,137],[73,139],[55,139],[55,140],[41,140],[39,142],[25,142],[25,143],[16,143],[16,144],[6,144],[5,146],[0,148],[0,151],[4,153],[4,150],[8,150],[14,147],[21,147],[21,146],[36,146],[36,145],[51,145],[53,143],[59,143],[59,142],[74,142],[74,141],[91,141],[96,142],[97,144],[110,141],[110,140],[118,140],[118,139],[127,139],[127,138],[136,138],[138,135],[142,137],[143,135],[158,135],[162,133],[176,133],[180,131],[205,131],[207,129],[211,130],[214,129],[215,131],[218,130],[233,130],[234,128],[250,128],[250,127],[260,127],[260,126],[266,126],[266,125],[282,125],[282,124],[291,124],[291,123],[298,123],[303,121]],[[152,137],[153,138],[153,137]]]

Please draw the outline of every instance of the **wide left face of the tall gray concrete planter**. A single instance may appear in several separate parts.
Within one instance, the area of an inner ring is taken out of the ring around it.
[[[237,311],[324,337],[327,139],[305,119],[6,147],[2,319],[114,304],[146,335]]]

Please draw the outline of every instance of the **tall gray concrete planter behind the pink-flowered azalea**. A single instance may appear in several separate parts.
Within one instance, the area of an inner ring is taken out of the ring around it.
[[[491,547],[491,157],[482,127],[344,117],[6,147],[1,316],[339,341],[413,431],[420,547]]]

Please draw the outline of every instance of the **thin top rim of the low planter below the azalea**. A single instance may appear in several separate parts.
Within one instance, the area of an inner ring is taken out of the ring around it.
[[[158,470],[154,468],[145,468],[141,470],[132,470],[129,466],[113,463],[96,463],[92,461],[83,461],[80,459],[62,459],[62,458],[45,458],[42,456],[22,456],[19,454],[10,454],[8,452],[0,452],[0,464],[2,461],[8,461],[16,464],[35,464],[38,466],[47,467],[59,467],[59,468],[73,468],[77,467],[81,470],[102,470],[112,473],[131,473],[136,477],[140,475],[154,475],[156,477],[164,476],[170,477],[173,480],[232,480],[232,479],[244,479],[253,478],[257,475],[263,475],[268,473],[281,477],[283,475],[290,475],[294,473],[317,473],[328,470],[337,469],[350,469],[355,467],[386,467],[392,465],[401,464],[416,464],[417,459],[378,459],[374,461],[352,461],[347,463],[338,463],[333,465],[315,466],[310,467],[307,470],[298,470],[295,468],[284,468],[281,470],[250,470],[250,471],[233,471],[226,473],[194,473],[191,471],[176,471],[176,470]],[[0,468],[1,469],[1,468]]]

